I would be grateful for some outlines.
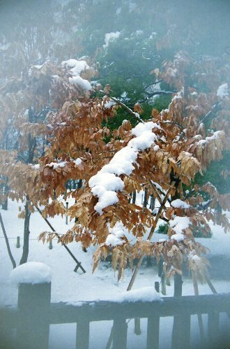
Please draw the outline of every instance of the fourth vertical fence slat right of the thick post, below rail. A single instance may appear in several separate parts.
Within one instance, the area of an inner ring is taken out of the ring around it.
[[[171,334],[171,349],[190,348],[190,314],[184,311],[174,316],[174,326]]]

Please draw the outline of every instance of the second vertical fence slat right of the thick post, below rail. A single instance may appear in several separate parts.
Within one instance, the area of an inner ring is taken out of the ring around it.
[[[127,346],[128,325],[125,318],[114,319],[113,349],[125,349]]]

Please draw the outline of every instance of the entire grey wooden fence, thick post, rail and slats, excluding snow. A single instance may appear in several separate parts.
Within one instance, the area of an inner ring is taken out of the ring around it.
[[[147,318],[146,348],[156,349],[160,318],[169,316],[174,317],[171,348],[190,348],[190,318],[194,314],[208,314],[207,343],[201,348],[218,348],[222,344],[219,314],[230,313],[230,293],[165,297],[151,302],[83,302],[76,306],[50,303],[50,287],[49,282],[20,284],[17,308],[0,308],[1,348],[45,349],[49,346],[50,324],[77,323],[76,348],[87,349],[90,323],[113,320],[112,348],[123,349],[127,348],[127,319]],[[12,336],[12,329],[16,329],[16,336]]]

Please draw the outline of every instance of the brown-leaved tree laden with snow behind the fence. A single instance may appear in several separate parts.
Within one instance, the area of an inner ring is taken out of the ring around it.
[[[194,240],[194,227],[201,227],[205,234],[208,220],[214,220],[229,229],[226,216],[213,215],[216,205],[229,209],[229,195],[220,195],[210,184],[194,184],[196,173],[204,172],[210,161],[220,159],[229,147],[227,74],[227,62],[221,59],[201,65],[179,52],[158,72],[160,79],[179,92],[166,110],[159,113],[153,109],[146,121],[141,120],[138,104],[134,111],[129,109],[136,117],[135,127],[127,120],[113,132],[102,127],[103,120],[114,117],[116,104],[128,109],[108,97],[107,88],[101,100],[68,102],[61,113],[49,115],[51,147],[40,160],[38,171],[41,193],[53,200],[45,212],[61,212],[55,198],[64,192],[67,179],[84,179],[84,188],[67,194],[75,198],[68,214],[77,222],[60,241],[81,241],[84,247],[98,245],[93,269],[112,252],[120,278],[128,260],[132,265],[132,259],[139,258],[138,270],[144,254],[158,260],[162,254],[167,272],[181,273],[183,255],[194,268],[194,259],[201,258],[202,263],[206,252]],[[197,80],[203,81],[205,91],[193,87]],[[211,123],[206,129],[208,117]],[[148,188],[158,200],[155,211],[130,202],[131,193],[142,188]],[[201,191],[210,195],[208,202],[203,203]],[[169,224],[169,239],[152,243],[160,219]],[[41,235],[43,241],[45,236]],[[205,273],[205,261],[203,266]]]

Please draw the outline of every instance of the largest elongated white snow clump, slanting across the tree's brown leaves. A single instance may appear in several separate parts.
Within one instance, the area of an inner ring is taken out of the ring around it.
[[[154,122],[137,124],[132,129],[132,138],[126,147],[116,152],[112,160],[102,167],[102,169],[89,180],[89,186],[93,195],[98,196],[98,204],[94,206],[95,211],[102,214],[102,209],[116,204],[118,197],[116,191],[123,190],[124,183],[118,175],[130,175],[134,170],[134,163],[137,160],[139,150],[144,150],[153,145],[157,138],[152,132],[154,127],[158,127]],[[159,128],[159,127],[158,127]]]

